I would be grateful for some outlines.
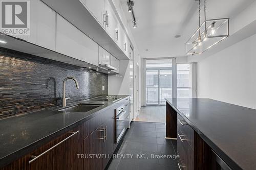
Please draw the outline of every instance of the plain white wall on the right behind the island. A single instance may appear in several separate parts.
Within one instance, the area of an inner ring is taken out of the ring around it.
[[[198,62],[197,96],[256,109],[256,34]]]

